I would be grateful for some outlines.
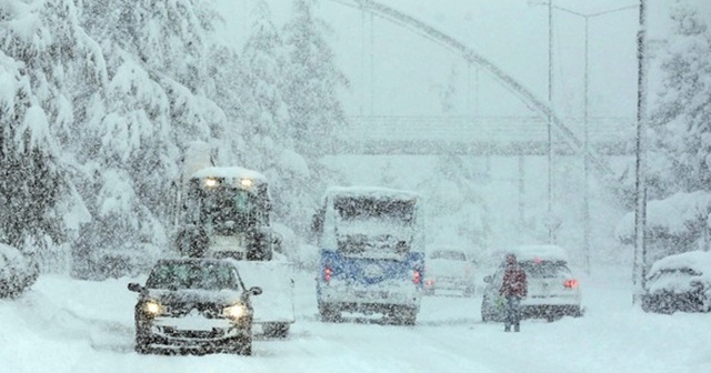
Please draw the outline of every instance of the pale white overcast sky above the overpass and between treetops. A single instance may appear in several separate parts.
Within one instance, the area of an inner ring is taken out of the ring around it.
[[[250,11],[252,1],[216,1],[227,20],[226,39],[241,42],[249,31],[244,14]],[[664,39],[668,9],[674,1],[647,1],[651,40]],[[711,14],[711,1],[688,1]],[[290,16],[291,1],[268,2],[276,22],[283,24]],[[535,95],[548,98],[548,7],[532,4],[545,1],[380,2],[425,21],[473,48]],[[553,0],[553,3],[591,14],[639,4],[639,0]],[[351,80],[343,100],[349,114],[441,114],[439,93],[451,79],[452,71],[458,83],[451,113],[515,115],[529,112],[485,73],[480,73],[477,80],[475,68],[469,68],[460,57],[410,30],[379,18],[371,26],[369,17],[363,18],[360,11],[332,0],[320,0],[318,12],[333,27],[331,46]],[[635,115],[638,14],[637,9],[627,9],[589,19],[591,115]],[[554,11],[552,94],[555,110],[563,117],[581,117],[582,113],[584,40],[582,17]]]

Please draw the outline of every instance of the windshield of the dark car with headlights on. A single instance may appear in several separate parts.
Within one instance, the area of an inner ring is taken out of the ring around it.
[[[179,262],[158,264],[148,278],[150,289],[237,289],[232,268],[216,263]]]

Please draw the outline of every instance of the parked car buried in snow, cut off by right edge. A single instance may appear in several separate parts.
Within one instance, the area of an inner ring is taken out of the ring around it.
[[[652,264],[645,280],[645,312],[711,312],[711,252],[662,258]]]

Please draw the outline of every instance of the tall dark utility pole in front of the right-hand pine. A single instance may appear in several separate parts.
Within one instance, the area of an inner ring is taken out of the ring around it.
[[[634,295],[632,303],[639,304],[644,294],[647,275],[647,61],[645,36],[647,7],[640,0],[640,29],[637,33],[637,194],[634,209]]]

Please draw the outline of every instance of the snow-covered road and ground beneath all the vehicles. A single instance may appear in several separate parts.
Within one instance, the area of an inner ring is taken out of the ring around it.
[[[43,276],[0,301],[0,372],[709,372],[711,315],[647,314],[631,306],[630,276],[583,279],[587,314],[525,321],[521,333],[481,323],[480,298],[425,298],[413,327],[350,317],[322,323],[312,275],[297,281],[287,340],[257,339],[253,356],[133,352],[128,279]]]

